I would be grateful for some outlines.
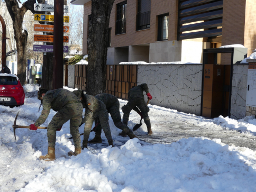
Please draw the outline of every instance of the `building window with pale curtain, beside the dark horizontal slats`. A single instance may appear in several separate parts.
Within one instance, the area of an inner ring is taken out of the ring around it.
[[[168,40],[168,21],[168,13],[164,15],[158,15],[158,41]]]

